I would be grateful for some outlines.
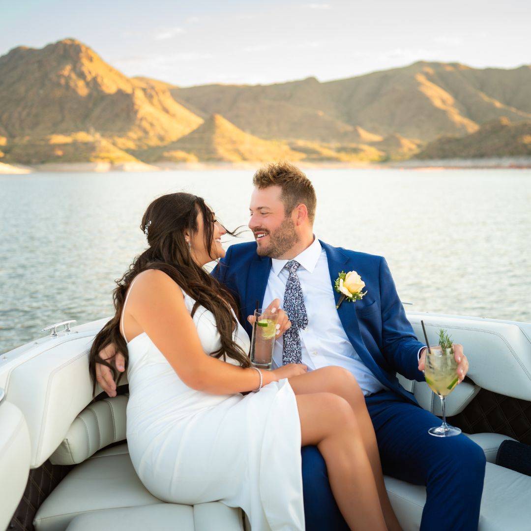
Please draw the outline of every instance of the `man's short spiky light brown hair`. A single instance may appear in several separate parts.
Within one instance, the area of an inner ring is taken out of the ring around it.
[[[286,216],[289,216],[298,204],[303,203],[306,205],[308,218],[313,223],[317,204],[315,189],[310,179],[293,164],[282,160],[271,162],[254,174],[253,184],[259,190],[280,186],[280,199],[284,203]]]

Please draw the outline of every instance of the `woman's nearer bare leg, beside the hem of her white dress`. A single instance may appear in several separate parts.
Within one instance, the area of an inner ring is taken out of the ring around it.
[[[332,393],[296,397],[302,445],[315,444],[350,529],[387,529],[360,427],[348,402]]]

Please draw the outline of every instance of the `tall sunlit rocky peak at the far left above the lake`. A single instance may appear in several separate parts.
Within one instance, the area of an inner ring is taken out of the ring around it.
[[[0,134],[8,138],[85,131],[156,144],[203,122],[163,84],[127,78],[74,39],[0,57],[0,96]]]

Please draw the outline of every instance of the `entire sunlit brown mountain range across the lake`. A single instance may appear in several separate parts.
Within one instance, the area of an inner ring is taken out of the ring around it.
[[[181,88],[64,39],[0,57],[0,161],[386,161],[531,155],[531,65],[417,62],[321,83]],[[490,140],[487,140],[490,139]]]

